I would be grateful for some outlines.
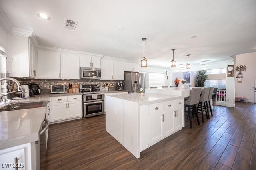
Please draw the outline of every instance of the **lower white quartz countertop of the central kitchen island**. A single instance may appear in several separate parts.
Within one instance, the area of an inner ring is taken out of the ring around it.
[[[114,95],[108,97],[115,97],[122,100],[136,102],[139,105],[148,105],[158,102],[176,100],[176,99],[184,99],[182,96],[175,95],[163,95],[163,94],[155,94],[155,93],[130,93],[124,95]],[[106,97],[107,98],[107,97]]]

